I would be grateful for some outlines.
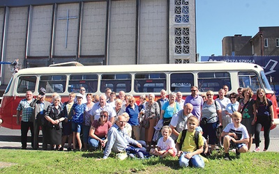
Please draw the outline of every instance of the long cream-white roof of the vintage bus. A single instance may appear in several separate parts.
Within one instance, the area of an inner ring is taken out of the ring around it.
[[[115,72],[176,72],[176,71],[212,71],[212,70],[263,70],[253,63],[199,62],[187,64],[145,64],[145,65],[89,65],[89,66],[52,66],[24,68],[16,74],[68,74],[79,72],[115,73]]]

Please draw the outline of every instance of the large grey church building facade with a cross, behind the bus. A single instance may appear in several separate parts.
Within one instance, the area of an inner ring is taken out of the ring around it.
[[[195,0],[2,0],[1,61],[22,68],[193,63]],[[13,72],[1,65],[1,84]]]

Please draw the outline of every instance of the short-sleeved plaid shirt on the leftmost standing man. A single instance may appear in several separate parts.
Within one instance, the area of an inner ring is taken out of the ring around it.
[[[31,102],[33,102],[33,99]],[[17,111],[22,111],[22,121],[23,122],[29,122],[30,118],[32,116],[34,108],[30,106],[30,103],[27,102],[27,99],[23,99],[20,101],[20,104],[18,104],[18,106],[17,106]]]

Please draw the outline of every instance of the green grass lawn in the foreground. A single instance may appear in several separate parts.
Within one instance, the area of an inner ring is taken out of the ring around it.
[[[248,152],[225,161],[213,152],[205,168],[179,168],[178,158],[106,160],[103,152],[0,150],[0,173],[279,173],[279,152]],[[10,165],[10,163],[14,165]]]

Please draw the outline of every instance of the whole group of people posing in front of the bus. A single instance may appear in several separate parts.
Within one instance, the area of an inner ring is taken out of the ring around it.
[[[204,158],[216,148],[225,149],[234,145],[236,155],[250,150],[255,134],[259,151],[259,132],[264,127],[264,151],[269,148],[269,132],[273,125],[273,107],[264,90],[257,90],[257,99],[252,99],[250,88],[239,88],[238,94],[227,94],[228,86],[218,91],[198,95],[197,86],[191,86],[191,95],[183,100],[182,93],[160,91],[160,98],[149,93],[135,97],[124,91],[116,93],[110,88],[105,94],[93,96],[84,87],[80,93],[70,93],[67,102],[52,96],[52,103],[45,101],[45,89],[33,98],[30,90],[17,107],[17,124],[21,124],[22,149],[27,148],[27,132],[31,129],[31,145],[38,149],[38,133],[43,133],[43,150],[50,144],[52,150],[104,148],[103,159],[110,152],[128,152],[130,157],[144,158],[148,155],[179,157],[179,164],[186,167],[189,161],[195,167],[204,167]],[[20,122],[20,113],[22,120]],[[224,129],[223,129],[224,128]],[[82,139],[81,139],[82,134]],[[211,150],[208,150],[208,145]],[[232,148],[232,147],[231,147]],[[146,152],[147,151],[147,152]]]

